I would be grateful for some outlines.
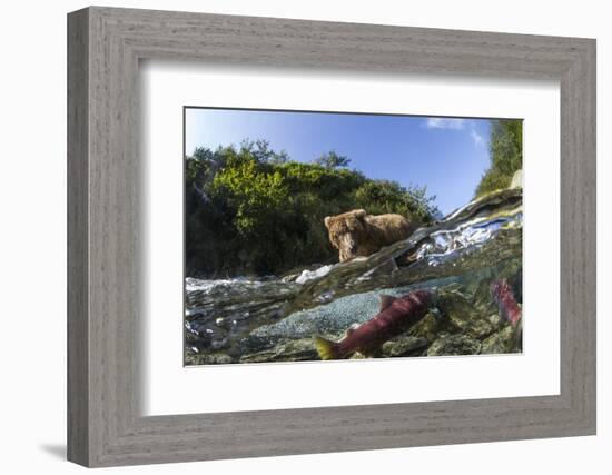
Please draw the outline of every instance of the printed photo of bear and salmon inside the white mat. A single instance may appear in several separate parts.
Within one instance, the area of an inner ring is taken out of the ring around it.
[[[520,119],[185,127],[185,365],[522,353]]]

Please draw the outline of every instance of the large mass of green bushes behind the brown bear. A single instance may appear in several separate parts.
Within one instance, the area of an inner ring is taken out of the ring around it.
[[[423,224],[438,214],[425,188],[369,179],[349,164],[335,151],[292,161],[261,140],[197,148],[185,166],[187,275],[282,275],[335,263],[323,220],[351,209]]]

